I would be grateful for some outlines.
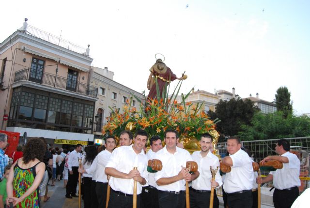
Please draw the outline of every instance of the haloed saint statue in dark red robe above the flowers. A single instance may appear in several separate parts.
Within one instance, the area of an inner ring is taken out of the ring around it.
[[[176,77],[176,75],[172,73],[171,69],[166,66],[162,59],[156,59],[156,62],[151,67],[150,72],[149,79],[147,80],[147,89],[150,90],[147,100],[157,98],[155,79],[158,83],[160,97],[162,97],[162,92],[166,82],[168,86],[170,82],[175,79],[183,80],[187,78],[185,74],[183,74],[180,78]]]

